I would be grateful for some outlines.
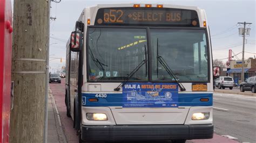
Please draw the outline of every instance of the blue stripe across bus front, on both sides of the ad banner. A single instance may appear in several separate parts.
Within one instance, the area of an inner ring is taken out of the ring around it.
[[[98,98],[98,102],[89,102],[90,98],[95,97],[96,94],[83,94],[83,106],[123,106],[123,94],[106,94],[106,98]],[[208,98],[208,102],[201,102],[200,98]],[[84,102],[84,100],[86,100]],[[179,94],[179,106],[212,106],[213,94],[196,93],[196,94]]]

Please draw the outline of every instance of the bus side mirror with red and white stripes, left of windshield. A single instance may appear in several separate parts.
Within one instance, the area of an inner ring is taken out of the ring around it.
[[[83,33],[80,31],[73,31],[70,38],[70,51],[80,52],[83,47]]]

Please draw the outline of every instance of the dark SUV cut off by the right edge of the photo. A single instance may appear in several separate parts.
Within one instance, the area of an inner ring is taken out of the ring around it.
[[[256,93],[255,86],[256,86],[256,76],[252,76],[247,78],[245,82],[242,82],[240,84],[240,91],[241,92],[252,91],[253,93]]]

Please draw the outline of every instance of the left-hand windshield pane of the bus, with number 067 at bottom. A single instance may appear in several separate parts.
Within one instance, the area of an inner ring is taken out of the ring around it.
[[[146,29],[90,28],[87,40],[89,80],[126,80],[145,57]],[[146,66],[130,80],[146,81]]]

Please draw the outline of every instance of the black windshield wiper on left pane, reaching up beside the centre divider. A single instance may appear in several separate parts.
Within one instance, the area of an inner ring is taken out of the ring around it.
[[[130,78],[146,63],[146,76],[147,76],[147,49],[146,45],[144,45],[145,50],[145,60],[139,63],[139,65],[134,68],[129,75],[125,77],[125,81],[123,83],[120,83],[117,88],[114,89],[114,91],[119,91],[121,87],[124,87],[124,85],[127,83],[127,81],[130,80]]]

